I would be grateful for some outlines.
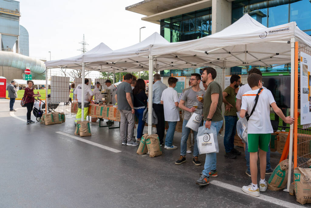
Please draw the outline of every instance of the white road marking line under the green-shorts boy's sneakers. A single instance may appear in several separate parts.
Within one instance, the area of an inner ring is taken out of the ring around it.
[[[220,181],[215,181],[215,180],[210,181],[210,183],[215,185],[215,186],[220,186],[220,187],[223,187],[223,188],[231,190],[231,191],[235,191],[235,192],[239,192],[241,194],[246,194],[248,196],[251,196],[251,195],[245,193],[244,191],[242,191],[242,187],[233,186],[233,185],[230,185],[228,183],[224,183],[224,182],[220,182]],[[276,204],[276,205],[279,205],[279,206],[288,207],[288,208],[304,207],[304,206],[300,206],[298,204],[293,204],[293,203],[290,203],[290,202],[287,202],[287,201],[283,201],[283,200],[280,200],[280,199],[276,199],[274,197],[266,196],[266,195],[263,195],[263,194],[260,194],[259,197],[256,197],[256,196],[253,196],[253,197],[255,197],[256,199],[260,199],[262,201],[267,201],[269,203]]]

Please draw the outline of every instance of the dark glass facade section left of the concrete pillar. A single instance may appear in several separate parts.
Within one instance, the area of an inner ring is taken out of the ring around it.
[[[211,35],[211,7],[160,20],[160,35],[169,42],[180,42],[198,39]],[[199,73],[200,68],[193,70],[164,70],[161,76],[190,76]]]

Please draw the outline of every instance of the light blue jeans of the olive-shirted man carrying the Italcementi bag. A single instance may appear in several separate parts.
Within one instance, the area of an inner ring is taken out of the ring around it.
[[[203,125],[205,125],[205,122],[203,123]],[[216,132],[217,135],[220,131],[220,128],[222,127],[222,123],[223,121],[212,121],[211,122],[211,126],[214,126],[216,128]],[[214,135],[214,137],[217,135]],[[206,157],[205,157],[205,164],[204,164],[204,170],[203,170],[203,175],[209,177],[209,172],[211,172],[211,170],[216,170],[216,153],[207,153]]]

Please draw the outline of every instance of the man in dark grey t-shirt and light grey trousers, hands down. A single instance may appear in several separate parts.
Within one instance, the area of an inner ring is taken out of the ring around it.
[[[122,144],[137,146],[138,144],[133,141],[135,110],[133,105],[133,91],[131,87],[132,80],[133,76],[131,74],[126,74],[124,76],[123,82],[118,85],[115,99],[118,103],[118,110],[121,114],[120,137],[122,139]]]

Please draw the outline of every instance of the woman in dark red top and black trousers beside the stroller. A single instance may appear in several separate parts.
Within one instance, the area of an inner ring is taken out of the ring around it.
[[[22,102],[24,101],[24,105],[27,107],[27,123],[35,123],[33,120],[31,120],[31,111],[34,107],[35,103],[35,97],[41,97],[40,94],[34,94],[34,89],[32,89],[32,85],[34,85],[34,82],[32,80],[27,80],[27,87],[24,92],[24,97],[22,99]]]

